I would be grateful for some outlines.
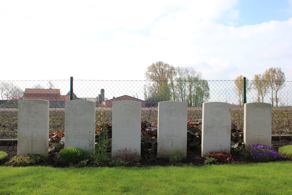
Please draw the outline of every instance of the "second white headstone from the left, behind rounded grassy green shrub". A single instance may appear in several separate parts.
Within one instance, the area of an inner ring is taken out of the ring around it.
[[[95,143],[95,102],[70,100],[65,104],[65,148],[77,147],[91,152]]]

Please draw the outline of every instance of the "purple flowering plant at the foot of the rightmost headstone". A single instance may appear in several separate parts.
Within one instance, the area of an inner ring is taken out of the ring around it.
[[[283,157],[275,149],[262,144],[255,144],[248,147],[248,158],[252,158],[259,162],[273,161],[277,158]]]

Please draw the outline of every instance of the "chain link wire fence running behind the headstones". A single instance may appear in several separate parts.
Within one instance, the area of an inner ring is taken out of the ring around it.
[[[73,88],[70,97],[70,87]],[[246,91],[246,94],[244,92]],[[17,138],[18,101],[50,101],[50,133],[65,129],[65,102],[70,98],[95,102],[96,122],[112,122],[112,102],[134,100],[142,103],[142,120],[157,122],[158,102],[188,104],[188,120],[201,119],[202,104],[220,101],[232,104],[232,123],[243,127],[243,103],[266,102],[272,107],[272,134],[291,134],[292,82],[242,80],[28,80],[0,81],[0,139]]]

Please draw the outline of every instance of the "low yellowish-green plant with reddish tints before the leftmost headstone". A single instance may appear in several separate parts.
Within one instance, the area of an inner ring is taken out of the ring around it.
[[[40,154],[27,154],[27,155],[17,155],[14,156],[7,162],[12,166],[18,165],[33,165],[39,162],[44,162],[45,157],[41,156]]]

